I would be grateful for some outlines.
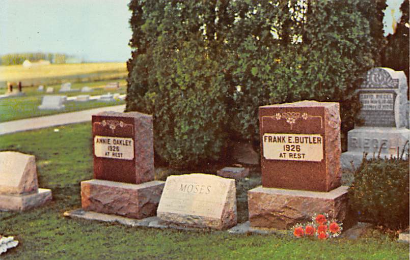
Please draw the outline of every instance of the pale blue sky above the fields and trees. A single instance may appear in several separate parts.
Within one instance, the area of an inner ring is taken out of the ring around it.
[[[155,1],[155,0],[152,0]],[[194,0],[189,0],[194,1]],[[398,8],[403,0],[387,0]],[[91,62],[125,62],[129,0],[0,0],[0,54],[58,52]],[[386,11],[386,33],[391,33]]]

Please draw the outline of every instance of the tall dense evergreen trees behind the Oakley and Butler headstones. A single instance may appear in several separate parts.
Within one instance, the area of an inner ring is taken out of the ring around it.
[[[347,132],[354,89],[380,60],[382,5],[132,0],[127,110],[154,115],[155,150],[173,165],[217,158],[227,137],[257,142],[265,104],[340,102]]]

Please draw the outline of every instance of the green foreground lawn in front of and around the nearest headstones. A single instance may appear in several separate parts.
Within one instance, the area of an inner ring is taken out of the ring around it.
[[[65,218],[64,211],[81,207],[80,181],[93,176],[91,124],[53,129],[0,136],[1,151],[36,156],[39,186],[52,189],[53,195],[44,207],[0,213],[0,234],[20,242],[2,259],[408,259],[407,244],[374,232],[358,240],[317,241]],[[208,169],[196,172],[204,171]],[[259,183],[258,172],[237,183],[240,222],[247,220],[246,189]]]

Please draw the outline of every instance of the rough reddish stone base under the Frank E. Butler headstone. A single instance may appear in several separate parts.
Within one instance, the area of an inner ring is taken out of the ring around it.
[[[347,186],[329,192],[259,186],[248,191],[249,220],[252,227],[288,229],[312,221],[314,214],[327,213],[347,229],[354,224],[347,214],[347,191]]]

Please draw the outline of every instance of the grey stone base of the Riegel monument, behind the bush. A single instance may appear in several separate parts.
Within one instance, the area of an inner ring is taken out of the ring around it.
[[[403,146],[410,137],[410,130],[407,128],[394,127],[358,127],[347,133],[347,152],[342,153],[340,158],[341,167],[352,170],[353,167],[360,166],[363,160],[363,152],[367,153],[367,158],[378,156],[380,146],[385,145],[380,150],[380,158],[397,158],[397,147],[399,154]],[[405,158],[403,155],[403,159]]]

